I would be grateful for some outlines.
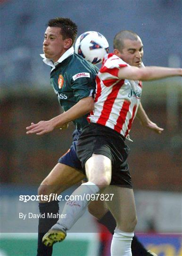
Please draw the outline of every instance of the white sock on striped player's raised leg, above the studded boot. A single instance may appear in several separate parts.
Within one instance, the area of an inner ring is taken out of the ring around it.
[[[85,212],[87,205],[91,199],[90,195],[96,194],[97,192],[99,192],[99,187],[92,182],[83,183],[81,186],[79,186],[72,193],[72,195],[74,196],[74,200],[71,198],[71,200],[67,201],[64,206],[62,214],[66,214],[66,218],[59,219],[57,223],[66,228],[67,230],[71,229],[74,223]],[[75,198],[75,195],[80,195],[80,197]],[[52,229],[59,229],[60,226],[58,224],[55,224]]]

